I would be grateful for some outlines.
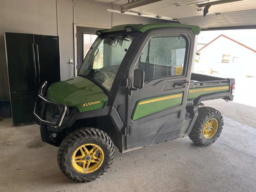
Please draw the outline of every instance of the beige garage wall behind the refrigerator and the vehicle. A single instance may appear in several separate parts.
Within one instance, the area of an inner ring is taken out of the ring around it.
[[[60,36],[61,80],[73,77],[74,27],[168,22],[107,12],[119,6],[90,0],[0,0],[0,100],[10,100],[4,32]]]

